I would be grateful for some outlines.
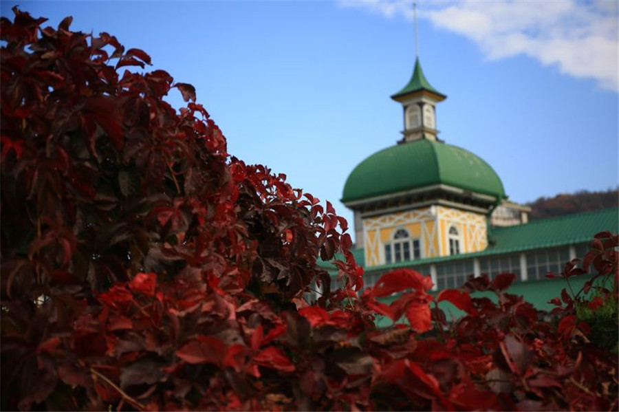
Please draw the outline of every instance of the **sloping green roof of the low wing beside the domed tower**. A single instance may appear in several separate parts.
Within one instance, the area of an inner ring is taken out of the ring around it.
[[[574,213],[572,215],[534,220],[530,221],[528,224],[518,226],[494,228],[492,229],[492,244],[482,252],[455,254],[453,256],[433,257],[418,259],[416,261],[379,265],[366,268],[366,271],[373,272],[375,270],[384,271],[395,268],[409,268],[411,266],[415,267],[415,265],[426,265],[429,263],[473,259],[474,257],[484,257],[495,254],[525,252],[527,250],[587,243],[592,241],[594,236],[599,232],[605,231],[619,231],[619,209],[610,208],[594,210],[593,212]],[[357,255],[355,255],[355,257],[357,257]],[[357,264],[365,266],[363,254],[360,254],[360,257],[362,259],[357,259]],[[582,259],[583,257],[579,256],[579,258]]]

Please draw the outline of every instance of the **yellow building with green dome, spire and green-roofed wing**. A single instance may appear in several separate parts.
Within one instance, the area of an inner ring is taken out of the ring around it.
[[[490,164],[438,138],[437,104],[446,97],[417,58],[409,83],[391,96],[402,105],[402,138],[346,180],[342,202],[354,213],[365,285],[394,268],[429,274],[435,290],[470,274],[512,272],[519,277],[512,292],[548,309],[565,283],[545,279],[547,272],[583,257],[596,233],[616,232],[618,210],[529,222],[530,208],[510,202]]]

